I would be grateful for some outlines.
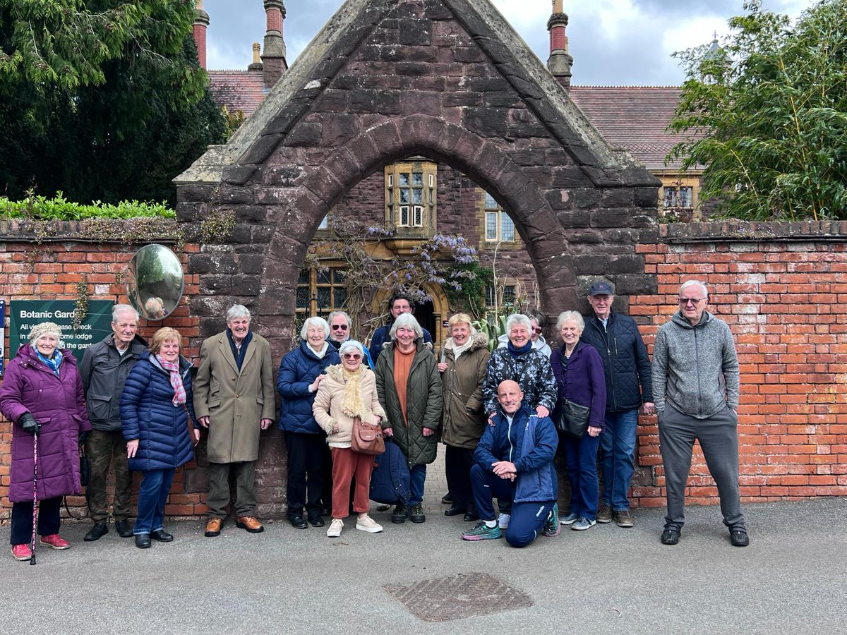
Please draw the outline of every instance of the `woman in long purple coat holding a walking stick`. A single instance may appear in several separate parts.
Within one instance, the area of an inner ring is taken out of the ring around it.
[[[76,360],[70,351],[62,350],[58,324],[36,324],[30,331],[30,343],[21,346],[8,363],[0,388],[0,411],[13,422],[8,486],[12,557],[32,557],[33,489],[41,544],[68,549],[70,543],[58,535],[59,506],[65,494],[82,491],[78,440],[81,443],[91,423]]]

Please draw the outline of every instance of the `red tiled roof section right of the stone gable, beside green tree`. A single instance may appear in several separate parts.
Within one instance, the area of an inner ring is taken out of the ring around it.
[[[679,141],[667,124],[679,102],[678,86],[571,86],[573,102],[612,146],[622,146],[652,172],[679,167],[665,157]]]

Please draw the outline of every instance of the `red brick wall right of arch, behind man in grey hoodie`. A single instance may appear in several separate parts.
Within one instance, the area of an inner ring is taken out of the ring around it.
[[[679,284],[700,279],[739,352],[743,500],[847,494],[847,223],[692,224],[640,245],[657,295],[630,298],[652,354],[656,329],[677,310]],[[639,431],[640,505],[664,505],[655,417]],[[687,494],[717,503],[699,449]]]

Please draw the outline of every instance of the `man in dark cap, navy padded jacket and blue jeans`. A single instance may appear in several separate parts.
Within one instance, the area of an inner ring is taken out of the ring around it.
[[[594,315],[585,320],[582,340],[595,347],[606,373],[606,428],[600,435],[598,458],[603,470],[603,492],[597,522],[632,527],[629,514],[629,482],[635,472],[635,431],[638,409],[654,412],[650,356],[628,315],[612,312],[612,285],[598,281],[588,291]]]

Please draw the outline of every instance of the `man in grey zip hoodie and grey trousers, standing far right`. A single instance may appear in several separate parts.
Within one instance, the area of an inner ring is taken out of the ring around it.
[[[667,516],[662,544],[677,544],[685,522],[685,484],[695,439],[717,484],[723,524],[736,547],[750,544],[739,495],[739,362],[733,335],[706,311],[706,284],[679,288],[679,311],[653,347],[653,396],[665,467]]]

